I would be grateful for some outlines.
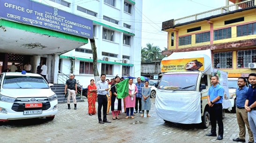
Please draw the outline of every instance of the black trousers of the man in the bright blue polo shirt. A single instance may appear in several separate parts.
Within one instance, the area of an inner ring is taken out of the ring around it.
[[[211,121],[211,133],[216,134],[216,120],[218,122],[218,135],[224,133],[222,122],[222,104],[214,104],[213,107],[209,107],[210,121]]]

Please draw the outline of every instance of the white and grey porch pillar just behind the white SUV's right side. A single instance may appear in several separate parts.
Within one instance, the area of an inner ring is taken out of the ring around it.
[[[58,83],[58,73],[59,73],[59,55],[48,54],[47,55],[47,75],[48,82],[56,84]]]

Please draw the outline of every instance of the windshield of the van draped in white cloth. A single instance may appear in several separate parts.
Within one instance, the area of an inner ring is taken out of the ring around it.
[[[163,75],[158,89],[166,90],[196,90],[198,74],[171,74]],[[184,88],[184,89],[182,89]]]

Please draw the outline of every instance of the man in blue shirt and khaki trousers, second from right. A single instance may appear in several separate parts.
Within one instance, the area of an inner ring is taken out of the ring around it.
[[[249,126],[248,122],[248,115],[247,111],[245,110],[244,104],[247,98],[247,92],[248,92],[248,87],[246,87],[246,78],[244,77],[239,77],[237,81],[237,85],[239,88],[236,89],[235,95],[236,95],[236,118],[237,118],[237,123],[239,126],[239,137],[236,139],[233,139],[234,142],[245,142],[245,125],[248,129],[248,134],[249,134],[249,142],[248,143],[253,143],[253,134]]]

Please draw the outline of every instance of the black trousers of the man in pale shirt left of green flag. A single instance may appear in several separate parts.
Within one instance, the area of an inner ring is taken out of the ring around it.
[[[103,121],[107,121],[107,118],[106,118],[107,100],[108,99],[106,95],[98,95],[98,121],[102,121],[101,119],[102,106],[103,106]]]

